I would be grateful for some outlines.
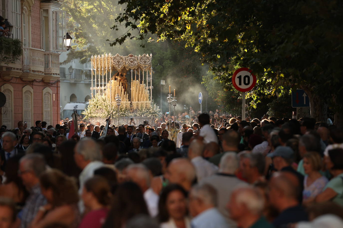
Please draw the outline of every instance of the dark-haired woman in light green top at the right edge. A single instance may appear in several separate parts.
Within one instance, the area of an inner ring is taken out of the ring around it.
[[[329,150],[329,157],[325,158],[325,163],[333,177],[323,192],[316,197],[316,201],[331,200],[343,206],[343,149]]]

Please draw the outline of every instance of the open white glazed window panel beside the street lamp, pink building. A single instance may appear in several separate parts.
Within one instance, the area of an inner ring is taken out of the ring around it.
[[[56,24],[56,44],[55,50],[66,50],[64,45],[63,37],[66,35],[66,11],[57,10],[55,13],[55,24]]]

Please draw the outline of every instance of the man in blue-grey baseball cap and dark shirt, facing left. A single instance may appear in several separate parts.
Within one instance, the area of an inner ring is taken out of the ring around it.
[[[292,174],[293,177],[296,178],[297,181],[295,181],[294,185],[296,185],[300,189],[298,200],[301,203],[303,198],[302,192],[304,190],[304,176],[294,170],[292,167],[294,158],[293,149],[288,146],[278,146],[276,147],[274,152],[269,153],[267,156],[272,158],[274,168],[277,171]]]

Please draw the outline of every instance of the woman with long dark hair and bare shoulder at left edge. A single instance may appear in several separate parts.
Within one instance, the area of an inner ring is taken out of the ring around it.
[[[23,206],[28,192],[23,180],[18,175],[19,161],[22,156],[15,156],[7,160],[5,167],[5,182],[0,185],[0,196],[13,199],[17,206]]]

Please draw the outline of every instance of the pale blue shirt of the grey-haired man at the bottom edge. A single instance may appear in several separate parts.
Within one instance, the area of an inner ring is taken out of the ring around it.
[[[228,228],[228,225],[223,215],[212,207],[206,211],[201,212],[191,221],[192,228]]]

